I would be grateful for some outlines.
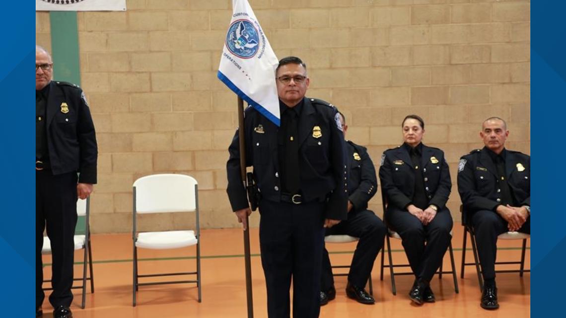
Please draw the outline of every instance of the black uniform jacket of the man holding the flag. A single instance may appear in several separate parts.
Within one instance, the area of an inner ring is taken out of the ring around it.
[[[326,218],[346,220],[348,190],[344,158],[344,135],[336,123],[337,109],[325,101],[305,98],[299,117],[299,167],[304,202],[329,196]],[[278,173],[277,127],[259,111],[245,111],[246,166],[254,167],[254,177],[262,199],[281,200]],[[238,131],[229,147],[228,197],[232,210],[248,207],[240,175]]]

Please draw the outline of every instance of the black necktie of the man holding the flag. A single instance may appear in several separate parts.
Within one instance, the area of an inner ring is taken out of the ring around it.
[[[290,194],[297,194],[300,186],[299,179],[299,138],[297,112],[290,108],[285,111],[287,131],[285,134],[285,183]]]

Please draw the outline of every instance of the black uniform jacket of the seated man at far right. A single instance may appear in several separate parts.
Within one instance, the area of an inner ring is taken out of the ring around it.
[[[495,210],[501,197],[497,167],[486,147],[476,149],[460,158],[458,164],[458,192],[464,209]],[[530,156],[509,151],[505,154],[505,175],[519,206],[530,206]]]

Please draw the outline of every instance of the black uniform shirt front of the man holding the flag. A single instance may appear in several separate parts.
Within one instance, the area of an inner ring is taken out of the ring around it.
[[[294,107],[279,101],[281,127],[277,133],[278,153],[281,169],[281,188],[287,194],[298,194],[301,190],[299,178],[299,116],[304,100]]]

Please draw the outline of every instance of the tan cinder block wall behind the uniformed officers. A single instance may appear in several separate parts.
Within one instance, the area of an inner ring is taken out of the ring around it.
[[[349,139],[381,153],[421,115],[424,143],[445,151],[455,220],[456,167],[482,147],[483,119],[507,119],[508,148],[530,153],[530,1],[250,0],[279,58],[308,66],[308,96],[345,113]],[[126,12],[79,12],[82,86],[95,119],[95,233],[131,229],[132,182],[152,173],[199,181],[201,226],[238,226],[226,196],[236,97],[216,78],[230,0],[128,0]],[[36,14],[50,49],[49,14]],[[57,66],[55,66],[57,67]],[[378,192],[379,193],[379,192]],[[381,214],[380,195],[370,203]],[[150,218],[164,229],[184,217]],[[251,218],[258,225],[258,213]]]

